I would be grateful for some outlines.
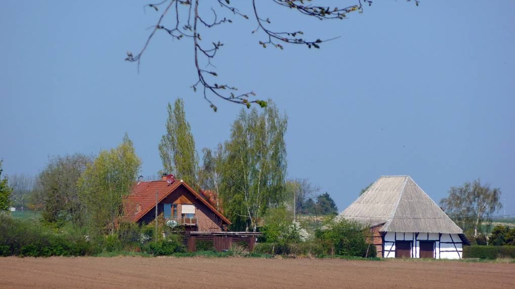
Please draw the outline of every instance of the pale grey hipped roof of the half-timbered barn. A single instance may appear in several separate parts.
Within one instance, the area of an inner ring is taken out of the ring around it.
[[[380,177],[337,218],[385,232],[463,233],[409,176]]]

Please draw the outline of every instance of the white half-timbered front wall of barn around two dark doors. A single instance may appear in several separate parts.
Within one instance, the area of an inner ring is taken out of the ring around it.
[[[461,259],[463,244],[458,234],[426,232],[386,232],[384,258],[395,258],[395,241],[411,241],[411,258],[420,257],[420,241],[435,241],[435,259]]]

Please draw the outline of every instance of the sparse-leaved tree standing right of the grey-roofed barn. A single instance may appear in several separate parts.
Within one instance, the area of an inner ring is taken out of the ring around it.
[[[449,196],[442,198],[440,207],[454,219],[465,232],[478,236],[482,224],[491,224],[491,215],[502,208],[501,189],[482,185],[480,179],[466,182],[461,187],[451,187]]]

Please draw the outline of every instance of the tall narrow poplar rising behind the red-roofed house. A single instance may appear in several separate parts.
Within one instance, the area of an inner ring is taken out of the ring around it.
[[[187,184],[197,184],[198,154],[190,123],[186,121],[184,101],[178,98],[174,107],[168,103],[166,134],[159,144],[162,173],[173,173]]]

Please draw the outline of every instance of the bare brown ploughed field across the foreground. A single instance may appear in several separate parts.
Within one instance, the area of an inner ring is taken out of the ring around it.
[[[336,259],[0,258],[0,288],[514,288],[515,264]]]

